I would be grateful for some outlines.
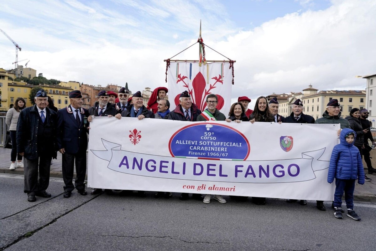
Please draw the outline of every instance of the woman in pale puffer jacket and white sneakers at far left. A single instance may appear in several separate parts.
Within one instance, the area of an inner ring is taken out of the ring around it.
[[[11,141],[12,141],[12,151],[11,151],[11,166],[9,167],[10,170],[14,170],[16,167],[23,167],[22,163],[22,156],[17,153],[17,144],[16,144],[16,130],[17,130],[17,121],[18,116],[22,109],[26,107],[26,102],[23,98],[17,98],[14,107],[9,109],[6,113],[5,123],[9,127],[9,131],[11,133]],[[17,164],[16,162],[17,156]]]

